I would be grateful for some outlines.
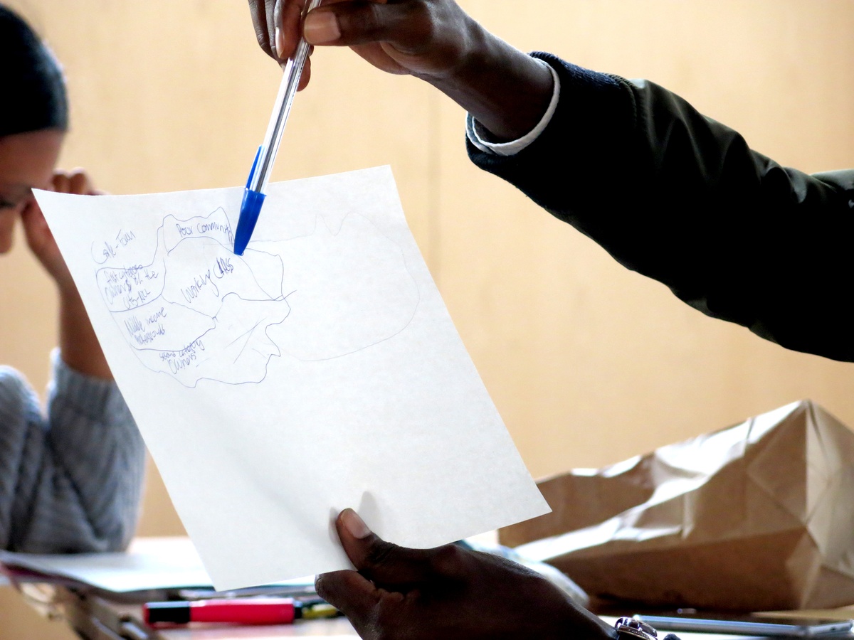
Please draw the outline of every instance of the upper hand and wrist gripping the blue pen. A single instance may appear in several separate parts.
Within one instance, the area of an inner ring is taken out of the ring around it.
[[[453,0],[325,0],[305,20],[303,5],[249,0],[258,42],[278,61],[291,55],[301,35],[313,46],[349,46],[384,72],[432,84],[496,141],[524,136],[546,113],[553,92],[548,69],[486,31]]]

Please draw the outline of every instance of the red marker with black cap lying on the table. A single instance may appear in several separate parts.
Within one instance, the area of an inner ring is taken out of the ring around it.
[[[293,598],[247,597],[143,604],[143,617],[149,625],[185,625],[189,622],[287,625],[297,618],[328,618],[336,614],[336,609],[328,604],[303,607]]]

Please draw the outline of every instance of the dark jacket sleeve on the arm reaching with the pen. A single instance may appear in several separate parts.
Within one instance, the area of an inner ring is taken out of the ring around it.
[[[712,317],[854,361],[854,171],[805,174],[668,90],[535,54],[558,108],[520,153],[471,159]]]

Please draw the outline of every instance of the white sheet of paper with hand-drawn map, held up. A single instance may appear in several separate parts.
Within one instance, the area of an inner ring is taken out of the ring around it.
[[[548,510],[418,253],[387,167],[38,202],[218,589],[348,567],[345,507],[429,547]]]

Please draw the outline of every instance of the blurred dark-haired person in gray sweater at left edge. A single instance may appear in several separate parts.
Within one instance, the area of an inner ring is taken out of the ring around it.
[[[0,548],[122,550],[137,525],[145,447],[32,195],[34,188],[96,192],[85,172],[55,169],[68,126],[61,67],[3,5],[0,87],[0,254],[11,250],[20,219],[60,302],[46,415],[23,376],[0,366]]]

